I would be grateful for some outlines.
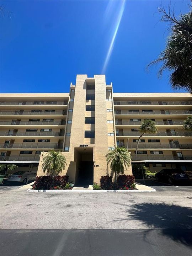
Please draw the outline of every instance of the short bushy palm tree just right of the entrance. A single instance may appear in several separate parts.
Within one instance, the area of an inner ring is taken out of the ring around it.
[[[130,153],[126,148],[115,147],[106,155],[107,165],[111,163],[111,172],[114,174],[114,181],[117,181],[117,176],[119,174],[124,174],[124,171],[127,170],[127,167],[131,164]]]

